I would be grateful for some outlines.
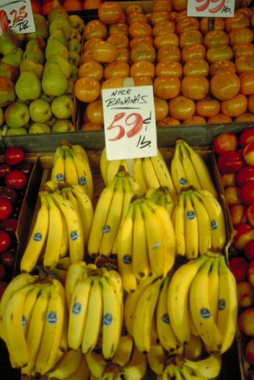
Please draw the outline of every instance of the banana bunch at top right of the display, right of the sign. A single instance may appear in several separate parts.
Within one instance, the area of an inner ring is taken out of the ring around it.
[[[217,197],[203,158],[181,139],[176,140],[175,153],[171,161],[171,176],[177,194],[180,194],[181,189],[193,186],[197,190],[208,190],[215,198]]]

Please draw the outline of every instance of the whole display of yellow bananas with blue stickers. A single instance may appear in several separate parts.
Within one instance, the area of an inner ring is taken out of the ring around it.
[[[69,380],[140,380],[147,362],[158,379],[218,376],[237,289],[202,157],[177,140],[170,174],[159,151],[134,162],[104,151],[101,173],[93,211],[86,152],[68,141],[55,152],[22,273],[0,303],[12,366]]]

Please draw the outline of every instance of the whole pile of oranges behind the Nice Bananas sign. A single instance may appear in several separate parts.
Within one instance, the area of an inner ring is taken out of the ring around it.
[[[103,128],[101,90],[153,85],[157,126],[254,121],[254,12],[232,18],[187,17],[186,0],[156,0],[152,12],[103,3],[84,28],[75,84],[88,103],[82,130]],[[251,29],[252,28],[252,29]]]

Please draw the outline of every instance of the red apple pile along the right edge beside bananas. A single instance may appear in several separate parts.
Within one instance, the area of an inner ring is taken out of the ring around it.
[[[221,133],[213,148],[236,230],[230,269],[237,281],[238,326],[246,338],[245,358],[254,366],[254,127],[239,137]]]

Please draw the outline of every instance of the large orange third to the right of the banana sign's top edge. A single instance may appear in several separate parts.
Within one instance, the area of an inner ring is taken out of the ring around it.
[[[229,100],[239,93],[240,85],[240,79],[236,74],[218,73],[210,81],[211,94],[218,100]]]

